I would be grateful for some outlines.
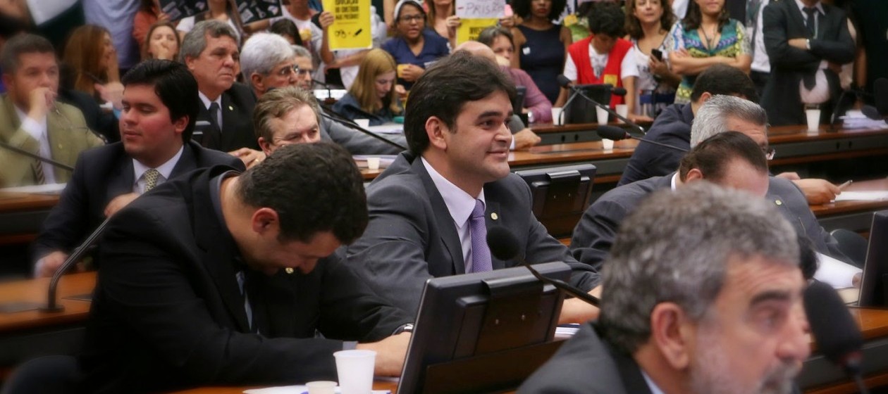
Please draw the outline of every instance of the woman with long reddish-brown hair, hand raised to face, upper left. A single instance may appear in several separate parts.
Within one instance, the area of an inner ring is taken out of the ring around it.
[[[117,67],[117,51],[106,28],[95,25],[75,28],[65,44],[63,60],[71,67],[74,89],[91,95],[99,103],[108,102],[121,108],[123,84]]]

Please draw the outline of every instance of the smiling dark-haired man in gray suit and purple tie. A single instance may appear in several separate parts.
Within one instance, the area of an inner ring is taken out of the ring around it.
[[[440,60],[414,84],[404,122],[410,150],[368,186],[370,223],[347,250],[349,263],[390,303],[415,313],[425,280],[513,267],[520,258],[571,264],[571,281],[585,291],[598,283],[598,273],[536,220],[527,184],[509,172],[505,122],[514,95],[495,63],[466,51]],[[485,237],[496,225],[518,234],[519,257],[490,255]],[[562,319],[595,313],[573,299]]]

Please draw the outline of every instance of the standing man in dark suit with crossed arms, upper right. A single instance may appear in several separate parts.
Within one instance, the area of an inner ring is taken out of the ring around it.
[[[821,104],[821,122],[842,90],[838,74],[854,59],[848,20],[838,7],[820,0],[772,2],[762,12],[771,78],[762,106],[777,126],[805,124],[803,104]]]

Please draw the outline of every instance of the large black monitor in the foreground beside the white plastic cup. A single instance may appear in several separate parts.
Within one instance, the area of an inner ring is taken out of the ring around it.
[[[564,263],[535,264],[569,280]],[[398,392],[511,390],[549,359],[564,296],[527,268],[426,281]]]

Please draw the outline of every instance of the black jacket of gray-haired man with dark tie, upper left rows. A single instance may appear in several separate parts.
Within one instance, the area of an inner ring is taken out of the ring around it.
[[[198,121],[210,122],[210,111],[200,102]],[[222,152],[231,152],[242,147],[259,149],[258,138],[253,131],[253,109],[256,107],[256,93],[242,83],[234,83],[222,93],[222,141],[220,146],[208,146],[207,138],[195,135],[194,139],[202,146]]]

